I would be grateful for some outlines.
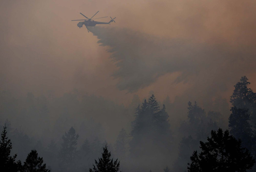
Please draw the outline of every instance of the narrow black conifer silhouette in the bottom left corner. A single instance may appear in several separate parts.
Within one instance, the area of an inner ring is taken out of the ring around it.
[[[2,171],[17,171],[21,162],[15,162],[17,154],[13,157],[10,156],[12,149],[12,142],[7,137],[7,127],[4,126],[4,130],[1,133],[1,141],[0,141],[0,169]]]

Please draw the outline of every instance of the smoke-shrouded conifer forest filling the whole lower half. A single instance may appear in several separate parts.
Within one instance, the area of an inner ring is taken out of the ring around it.
[[[180,110],[154,94],[124,106],[76,89],[61,97],[1,91],[0,104],[4,171],[256,170],[256,93],[246,76],[207,109],[187,101]]]

